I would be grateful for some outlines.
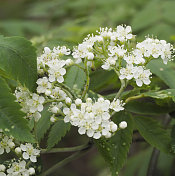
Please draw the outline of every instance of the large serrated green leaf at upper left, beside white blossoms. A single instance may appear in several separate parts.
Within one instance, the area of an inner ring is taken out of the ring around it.
[[[31,42],[22,37],[0,37],[0,69],[10,79],[18,80],[34,91],[37,63],[36,51]]]

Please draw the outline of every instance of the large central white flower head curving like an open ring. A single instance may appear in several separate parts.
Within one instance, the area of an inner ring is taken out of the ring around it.
[[[30,93],[22,87],[15,91],[22,111],[27,114],[26,118],[38,121],[44,105],[50,102],[52,122],[61,114],[65,116],[65,122],[79,127],[80,134],[86,133],[96,139],[101,136],[110,137],[117,130],[117,125],[110,120],[111,111],[124,110],[122,102],[114,99],[110,103],[109,100],[102,101],[102,98],[93,102],[86,95],[86,100],[79,99],[81,104],[76,104],[78,99],[72,97],[65,88],[66,68],[81,62],[87,62],[88,66],[100,62],[102,69],[114,70],[125,84],[134,80],[139,87],[149,85],[152,73],[146,69],[146,64],[158,57],[167,64],[172,58],[173,47],[165,40],[153,38],[134,44],[135,37],[130,26],[119,25],[116,29],[100,28],[96,35],[88,35],[74,47],[72,53],[66,46],[53,49],[45,47],[43,54],[37,58],[39,78],[36,93]],[[102,106],[103,104],[105,105]]]

